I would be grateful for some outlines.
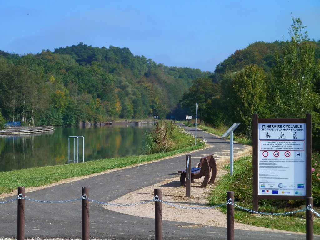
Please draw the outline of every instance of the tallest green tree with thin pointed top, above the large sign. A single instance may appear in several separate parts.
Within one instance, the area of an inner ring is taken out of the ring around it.
[[[283,57],[275,54],[276,65],[273,69],[275,117],[303,118],[312,113],[319,105],[319,95],[314,92],[316,74],[315,49],[309,44],[307,27],[300,18],[293,18],[291,41],[283,46]]]

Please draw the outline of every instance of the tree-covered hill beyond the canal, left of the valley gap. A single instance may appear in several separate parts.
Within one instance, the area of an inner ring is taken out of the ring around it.
[[[0,51],[0,109],[7,120],[28,125],[165,117],[193,80],[209,75],[114,46],[80,43],[23,56]]]

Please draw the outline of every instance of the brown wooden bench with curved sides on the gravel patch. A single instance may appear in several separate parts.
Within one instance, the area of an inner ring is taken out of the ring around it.
[[[211,178],[210,172],[212,171]],[[187,170],[183,169],[178,171],[181,173],[180,175],[180,185],[186,186],[186,177],[187,177]],[[213,154],[204,156],[200,158],[198,167],[191,168],[191,182],[192,183],[201,183],[200,186],[192,186],[192,187],[199,187],[205,188],[207,184],[212,184],[217,176],[217,164],[216,160],[214,159]],[[204,177],[202,182],[195,182],[195,179],[200,179]],[[210,178],[210,179],[209,179]]]

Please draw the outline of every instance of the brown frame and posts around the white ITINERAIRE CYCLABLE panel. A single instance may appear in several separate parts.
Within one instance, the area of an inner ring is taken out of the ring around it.
[[[258,195],[258,131],[259,123],[304,123],[306,124],[306,196],[276,196]],[[279,199],[279,200],[305,200],[311,197],[311,114],[306,114],[306,118],[259,118],[258,114],[253,114],[252,131],[252,173],[253,173],[253,211],[258,211],[259,199]]]

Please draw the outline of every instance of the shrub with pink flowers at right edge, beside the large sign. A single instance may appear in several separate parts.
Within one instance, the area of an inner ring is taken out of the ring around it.
[[[320,153],[312,154],[311,165],[313,204],[320,205]]]

